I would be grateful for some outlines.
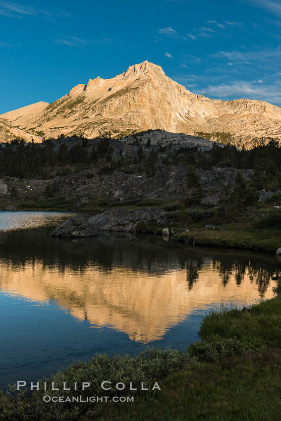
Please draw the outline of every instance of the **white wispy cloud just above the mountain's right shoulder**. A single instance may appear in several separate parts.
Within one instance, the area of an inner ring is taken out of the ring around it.
[[[248,98],[259,101],[281,103],[281,83],[275,85],[262,85],[262,81],[233,81],[219,85],[209,85],[199,91],[202,95],[231,100],[233,98]]]

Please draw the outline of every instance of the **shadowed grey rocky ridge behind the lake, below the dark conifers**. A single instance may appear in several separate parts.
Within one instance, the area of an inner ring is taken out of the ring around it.
[[[107,198],[120,201],[139,198],[165,198],[177,200],[186,194],[186,165],[159,166],[153,175],[123,173],[118,170],[103,174],[99,170],[85,170],[80,173],[56,177],[52,182],[55,192],[63,194],[66,201],[75,197],[78,205],[87,204],[91,198]],[[224,184],[234,186],[236,173],[240,171],[248,184],[253,176],[252,169],[213,167],[210,170],[197,169],[204,190],[202,203],[217,204]],[[93,174],[87,178],[87,174]]]

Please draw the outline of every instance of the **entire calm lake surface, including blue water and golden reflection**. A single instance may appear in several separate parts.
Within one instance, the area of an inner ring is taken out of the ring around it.
[[[271,298],[276,256],[157,236],[49,236],[63,212],[0,212],[0,387],[95,353],[184,348],[215,306]]]

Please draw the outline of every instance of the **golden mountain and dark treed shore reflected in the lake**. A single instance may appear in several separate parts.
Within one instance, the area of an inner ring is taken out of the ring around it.
[[[4,234],[0,289],[38,305],[51,300],[77,320],[142,343],[162,339],[194,310],[272,297],[271,277],[281,269],[271,255],[188,248],[149,236],[57,240],[49,231]]]

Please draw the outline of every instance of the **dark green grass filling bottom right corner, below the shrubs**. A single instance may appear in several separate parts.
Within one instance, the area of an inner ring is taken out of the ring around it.
[[[157,396],[108,404],[81,421],[277,421],[281,353],[246,355],[225,364],[193,365],[160,382]]]

